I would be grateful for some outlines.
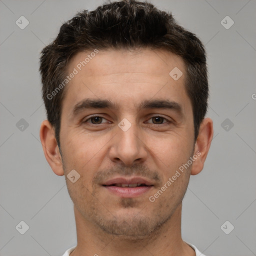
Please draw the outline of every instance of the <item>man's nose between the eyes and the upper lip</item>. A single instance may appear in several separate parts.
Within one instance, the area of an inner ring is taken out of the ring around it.
[[[117,134],[111,141],[112,145],[109,150],[110,159],[125,165],[145,161],[147,150],[139,127],[136,127],[135,124],[131,124],[127,130],[121,129],[120,127],[116,127]]]

